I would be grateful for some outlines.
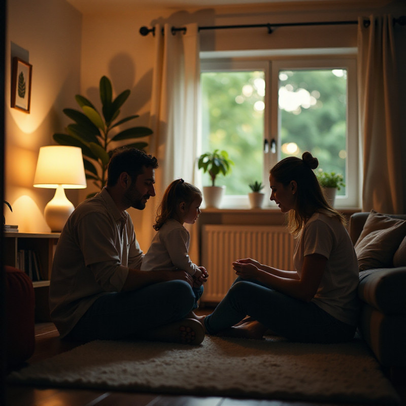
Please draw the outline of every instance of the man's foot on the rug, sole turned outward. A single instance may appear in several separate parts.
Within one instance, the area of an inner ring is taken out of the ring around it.
[[[147,330],[140,335],[140,338],[151,341],[198,345],[205,338],[205,329],[197,320],[183,319]]]

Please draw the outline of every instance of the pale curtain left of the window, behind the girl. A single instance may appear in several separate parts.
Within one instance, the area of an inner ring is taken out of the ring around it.
[[[155,26],[155,65],[152,83],[150,127],[154,131],[150,153],[158,159],[155,208],[166,187],[175,179],[195,183],[194,167],[200,137],[199,125],[199,36],[197,24],[187,24],[186,32],[171,32],[171,25]],[[148,205],[147,205],[148,207]],[[155,208],[143,216],[143,232],[155,220]],[[147,208],[146,208],[147,209]],[[197,260],[197,234],[191,233],[189,254]]]

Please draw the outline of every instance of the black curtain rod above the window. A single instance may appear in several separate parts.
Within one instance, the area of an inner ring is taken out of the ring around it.
[[[400,25],[406,25],[406,16],[401,16],[399,18],[393,19],[393,24],[399,23]],[[212,26],[204,26],[198,27],[198,31],[208,30],[208,29],[228,29],[228,28],[267,28],[268,34],[273,32],[273,28],[276,27],[292,27],[292,26],[306,26],[306,25],[344,25],[344,24],[358,24],[358,21],[351,20],[351,21],[315,21],[315,22],[291,22],[291,23],[279,23],[279,24],[245,24],[245,25],[212,25]],[[364,19],[363,24],[365,27],[368,27],[370,24],[369,19]],[[171,32],[172,35],[175,35],[177,31],[183,31],[186,33],[186,27],[172,27]],[[142,26],[140,28],[140,34],[145,37],[150,32],[152,35],[155,35],[155,27],[148,28],[146,26]],[[163,28],[162,28],[163,33]]]

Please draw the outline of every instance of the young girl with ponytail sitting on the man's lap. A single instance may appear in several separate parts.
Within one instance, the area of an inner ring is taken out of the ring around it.
[[[189,258],[189,231],[184,223],[194,224],[201,205],[200,190],[183,179],[173,181],[165,190],[158,208],[151,246],[144,256],[142,270],[185,270],[193,277],[195,306],[203,293],[208,273],[205,267],[195,265]],[[188,317],[196,316],[193,314]]]

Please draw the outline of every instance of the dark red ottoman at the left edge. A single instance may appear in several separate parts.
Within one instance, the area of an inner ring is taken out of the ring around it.
[[[6,269],[7,368],[21,365],[35,348],[35,296],[32,282],[20,269]]]

